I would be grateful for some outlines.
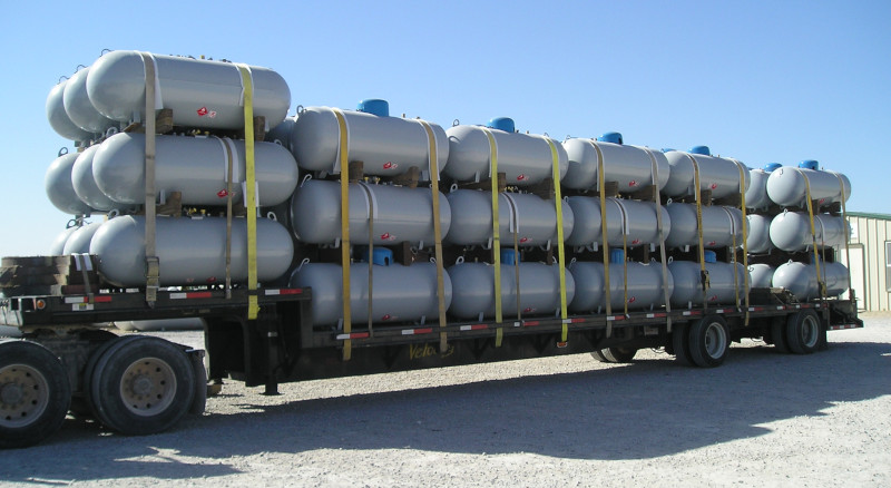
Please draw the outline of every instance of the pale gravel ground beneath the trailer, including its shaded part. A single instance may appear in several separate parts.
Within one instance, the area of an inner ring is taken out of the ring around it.
[[[0,452],[1,486],[891,486],[891,314],[830,350],[734,344],[283,384],[227,382],[204,416],[123,437],[68,419]],[[200,344],[195,332],[161,334]]]

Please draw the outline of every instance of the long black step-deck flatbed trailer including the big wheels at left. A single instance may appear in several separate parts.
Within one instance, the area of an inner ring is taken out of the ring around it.
[[[21,447],[52,435],[69,411],[91,413],[124,433],[165,430],[204,410],[224,379],[263,385],[528,358],[591,353],[628,362],[639,349],[664,348],[679,362],[719,365],[730,343],[763,338],[779,349],[826,348],[830,330],[862,328],[855,302],[799,303],[779,289],[753,289],[750,305],[657,309],[439,324],[403,324],[350,333],[312,323],[310,289],[260,287],[248,320],[248,291],[222,286],[96,294],[0,297],[0,324],[23,339],[0,342],[0,446]],[[205,351],[109,323],[200,318]],[[206,368],[206,369],[205,369]]]

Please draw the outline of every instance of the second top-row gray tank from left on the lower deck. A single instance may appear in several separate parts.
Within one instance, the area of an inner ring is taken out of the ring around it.
[[[549,178],[552,156],[547,136],[513,131],[513,121],[497,118],[490,123],[498,147],[498,172],[505,173],[509,186],[531,186]],[[507,129],[507,130],[506,130]],[[449,162],[443,173],[458,182],[477,182],[489,177],[489,137],[480,126],[458,125],[446,130],[449,136]],[[549,138],[557,149],[560,180],[569,169],[562,144]],[[556,183],[556,182],[555,182]]]

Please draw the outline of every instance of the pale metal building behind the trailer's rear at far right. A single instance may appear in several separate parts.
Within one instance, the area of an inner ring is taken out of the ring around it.
[[[849,212],[851,287],[858,309],[891,310],[891,215]],[[838,261],[848,264],[844,247]]]

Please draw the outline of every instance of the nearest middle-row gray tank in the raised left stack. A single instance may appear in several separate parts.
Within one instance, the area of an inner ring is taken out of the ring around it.
[[[145,135],[116,134],[99,145],[94,156],[96,184],[110,199],[145,203]],[[180,192],[188,205],[225,205],[228,156],[233,158],[233,187],[242,199],[245,180],[244,140],[216,137],[156,136],[155,191]],[[286,201],[297,186],[297,165],[285,148],[254,144],[258,205]]]

